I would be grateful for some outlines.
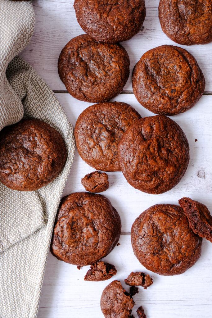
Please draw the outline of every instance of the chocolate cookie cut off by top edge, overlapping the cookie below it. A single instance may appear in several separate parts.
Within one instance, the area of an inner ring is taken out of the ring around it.
[[[103,43],[129,40],[146,16],[144,0],[75,0],[74,9],[82,29]]]

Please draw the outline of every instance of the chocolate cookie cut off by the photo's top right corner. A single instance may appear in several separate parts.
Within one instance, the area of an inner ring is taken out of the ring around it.
[[[159,19],[163,32],[182,45],[212,41],[211,0],[160,0]]]

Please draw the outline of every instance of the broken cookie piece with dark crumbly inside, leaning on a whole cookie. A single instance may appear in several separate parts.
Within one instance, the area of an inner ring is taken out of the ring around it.
[[[212,243],[212,216],[207,206],[186,197],[180,199],[179,204],[188,218],[192,231]]]

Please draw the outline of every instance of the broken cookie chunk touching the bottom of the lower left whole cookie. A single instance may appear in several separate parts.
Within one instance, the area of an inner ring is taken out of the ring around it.
[[[113,275],[116,275],[116,272],[115,266],[100,260],[99,262],[91,265],[91,268],[87,271],[84,280],[108,280],[113,277]]]

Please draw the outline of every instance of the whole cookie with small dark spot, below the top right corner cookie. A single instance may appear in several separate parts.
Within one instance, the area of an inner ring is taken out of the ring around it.
[[[169,116],[193,107],[205,89],[204,76],[193,55],[173,45],[144,53],[133,69],[132,83],[143,107]]]

